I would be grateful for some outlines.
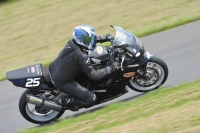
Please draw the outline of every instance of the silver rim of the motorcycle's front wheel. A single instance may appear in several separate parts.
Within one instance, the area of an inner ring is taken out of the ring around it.
[[[141,91],[153,90],[161,85],[165,77],[165,72],[164,69],[159,64],[155,62],[148,62],[147,75],[150,77],[150,80],[145,80],[142,78],[134,79],[134,77],[132,77],[129,83],[137,90]]]

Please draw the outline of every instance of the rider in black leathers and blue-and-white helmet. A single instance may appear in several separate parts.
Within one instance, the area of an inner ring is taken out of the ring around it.
[[[79,71],[83,71],[92,80],[99,80],[118,68],[117,64],[113,63],[111,66],[95,70],[87,55],[87,50],[94,49],[96,43],[112,39],[114,38],[110,34],[96,37],[95,29],[90,25],[77,26],[73,31],[73,38],[51,62],[49,74],[52,83],[56,89],[70,96],[60,101],[70,110],[77,111],[81,107],[92,106],[96,101],[93,92],[74,80]]]

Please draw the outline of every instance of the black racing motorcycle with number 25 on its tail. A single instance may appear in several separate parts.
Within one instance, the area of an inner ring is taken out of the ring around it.
[[[166,63],[145,52],[136,36],[121,27],[111,27],[116,30],[111,46],[97,46],[93,51],[88,51],[88,56],[95,69],[108,66],[113,61],[119,63],[120,69],[99,81],[89,79],[81,72],[75,78],[96,94],[95,105],[122,96],[129,88],[138,92],[157,89],[168,77]],[[54,88],[48,67],[34,64],[9,71],[6,77],[15,86],[27,89],[19,100],[19,111],[26,120],[45,124],[60,118],[67,110],[59,100],[68,95]]]

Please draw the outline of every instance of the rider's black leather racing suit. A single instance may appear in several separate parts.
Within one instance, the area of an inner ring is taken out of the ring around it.
[[[109,40],[106,40],[105,37],[97,38],[97,42],[105,41]],[[68,41],[59,56],[51,62],[49,73],[56,89],[74,97],[72,104],[79,107],[88,107],[95,103],[96,96],[74,80],[74,77],[80,71],[85,72],[93,80],[99,80],[110,74],[112,68],[108,66],[95,70],[88,60],[88,55],[72,39]]]

